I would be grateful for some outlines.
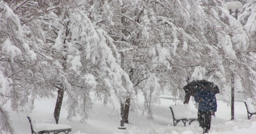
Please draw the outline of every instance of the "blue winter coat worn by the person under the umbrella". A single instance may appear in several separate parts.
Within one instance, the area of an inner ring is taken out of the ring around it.
[[[199,99],[202,99],[202,102],[199,102]],[[197,91],[194,95],[194,101],[199,103],[198,110],[210,112],[217,111],[215,94],[208,89]]]

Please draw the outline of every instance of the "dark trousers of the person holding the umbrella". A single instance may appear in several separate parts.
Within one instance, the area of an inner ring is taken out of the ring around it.
[[[212,112],[198,110],[197,114],[199,125],[204,129],[203,133],[208,133],[211,128]]]

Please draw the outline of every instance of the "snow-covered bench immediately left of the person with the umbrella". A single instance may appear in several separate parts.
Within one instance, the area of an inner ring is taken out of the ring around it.
[[[192,121],[196,121],[198,119],[197,114],[192,114],[189,104],[171,105],[169,108],[171,109],[174,126],[182,121],[184,123],[184,127],[186,127],[187,121],[189,121],[190,125]]]

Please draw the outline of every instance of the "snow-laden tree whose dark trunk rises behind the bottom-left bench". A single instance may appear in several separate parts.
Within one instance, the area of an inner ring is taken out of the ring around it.
[[[44,93],[31,88],[24,98],[30,95],[32,98],[47,97],[57,88],[57,122],[64,92],[69,98],[66,102],[69,119],[77,116],[77,113],[81,121],[87,119],[92,91],[99,96],[104,95],[118,109],[117,103],[123,101],[127,93],[133,94],[133,86],[112,54],[112,50],[117,51],[113,39],[91,23],[84,7],[77,7],[77,1],[31,2],[23,1],[23,6],[19,6],[21,3],[12,1],[10,5],[21,16],[31,9],[27,5],[34,5],[32,11],[28,12],[30,15],[21,17],[21,24],[29,45],[38,56],[32,74],[39,71],[47,79],[38,81],[42,89],[46,89],[39,90]]]

